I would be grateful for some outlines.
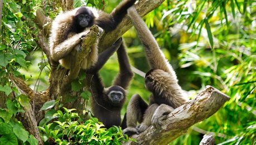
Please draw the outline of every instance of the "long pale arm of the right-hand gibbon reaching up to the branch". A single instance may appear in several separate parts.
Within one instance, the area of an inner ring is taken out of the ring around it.
[[[152,69],[162,69],[165,72],[173,73],[173,68],[170,66],[167,59],[165,59],[163,52],[160,51],[157,41],[149,31],[143,19],[141,19],[135,7],[130,7],[127,10],[127,14],[131,18],[138,36],[145,47],[145,53],[150,67]]]

